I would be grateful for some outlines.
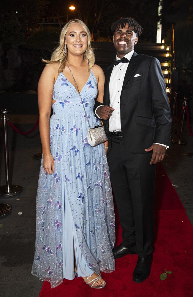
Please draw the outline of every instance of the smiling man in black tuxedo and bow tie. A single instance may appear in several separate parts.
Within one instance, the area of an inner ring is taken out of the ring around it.
[[[134,282],[150,274],[153,252],[155,164],[170,145],[170,106],[159,61],[134,51],[143,28],[121,18],[111,27],[116,60],[105,72],[103,104],[94,112],[103,120],[107,159],[123,229],[115,258],[138,254]]]

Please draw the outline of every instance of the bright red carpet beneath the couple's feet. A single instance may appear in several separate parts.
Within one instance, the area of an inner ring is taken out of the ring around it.
[[[121,227],[117,224],[117,244],[121,243]],[[44,282],[39,297],[192,297],[193,229],[181,201],[161,165],[156,171],[155,251],[150,277],[143,283],[132,281],[137,255],[116,260],[116,270],[102,274],[107,285],[95,290],[83,279],[63,283],[51,289]],[[161,281],[159,275],[173,271]]]

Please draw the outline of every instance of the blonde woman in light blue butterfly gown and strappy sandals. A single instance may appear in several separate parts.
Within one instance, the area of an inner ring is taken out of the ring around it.
[[[103,101],[104,86],[87,26],[70,20],[51,60],[45,62],[38,84],[43,156],[32,274],[48,280],[51,287],[77,274],[89,286],[102,288],[106,283],[100,271],[115,269],[115,221],[105,146],[91,147],[86,138],[82,103],[91,127],[99,125],[93,107],[96,98]]]

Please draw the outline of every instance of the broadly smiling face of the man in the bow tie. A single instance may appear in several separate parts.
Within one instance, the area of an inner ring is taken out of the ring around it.
[[[119,27],[116,29],[113,35],[113,43],[117,50],[117,56],[122,58],[127,53],[134,49],[137,43],[138,37],[136,33],[133,32],[133,27],[129,28],[129,24],[126,24],[123,29]]]

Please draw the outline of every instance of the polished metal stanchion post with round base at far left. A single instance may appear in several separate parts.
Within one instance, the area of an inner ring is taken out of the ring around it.
[[[4,155],[5,155],[5,180],[6,185],[0,187],[0,196],[11,197],[22,192],[23,187],[18,185],[12,185],[10,183],[10,172],[9,172],[9,151],[8,151],[8,139],[7,139],[7,110],[1,110],[3,114],[3,133],[4,133]]]

